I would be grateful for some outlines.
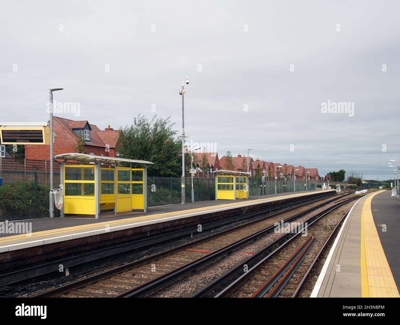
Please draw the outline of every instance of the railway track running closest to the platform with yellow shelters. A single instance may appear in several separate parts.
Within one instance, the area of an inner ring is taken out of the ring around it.
[[[32,297],[142,297],[268,233],[276,221],[294,220],[342,197],[325,198],[268,215]]]

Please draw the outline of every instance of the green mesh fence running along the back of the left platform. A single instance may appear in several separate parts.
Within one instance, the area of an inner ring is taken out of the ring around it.
[[[47,172],[0,171],[3,186],[0,186],[0,221],[21,220],[48,217],[50,174]],[[185,202],[192,201],[192,179],[186,177]],[[54,174],[54,186],[58,187],[60,174]],[[305,181],[296,180],[296,192],[305,191]],[[259,195],[294,191],[293,180],[284,181],[249,181],[250,198]],[[308,190],[313,191],[318,185],[308,183]],[[194,201],[215,200],[214,179],[193,179]],[[148,177],[147,178],[147,205],[181,203],[180,177]],[[60,211],[55,209],[55,216]]]

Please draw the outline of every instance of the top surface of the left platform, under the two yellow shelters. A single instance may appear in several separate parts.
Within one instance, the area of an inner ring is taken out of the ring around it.
[[[172,219],[187,218],[195,215],[246,207],[249,205],[290,197],[308,196],[315,193],[321,193],[321,191],[301,191],[293,194],[280,193],[263,195],[252,197],[248,200],[237,201],[201,201],[187,203],[185,205],[165,205],[160,207],[150,207],[148,208],[147,213],[134,213],[113,217],[108,216],[102,219],[94,219],[90,217],[66,217],[10,221],[8,224],[26,223],[27,227],[31,227],[31,231],[30,233],[19,233],[19,235],[15,235],[14,233],[0,233],[0,253],[88,237],[111,231],[140,227],[143,225],[170,221]],[[3,224],[6,226],[5,223]]]

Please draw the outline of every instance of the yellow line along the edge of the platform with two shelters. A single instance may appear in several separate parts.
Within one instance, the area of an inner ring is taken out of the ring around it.
[[[235,203],[226,203],[222,205],[214,205],[210,207],[201,207],[201,208],[196,208],[196,209],[188,209],[188,210],[180,210],[180,211],[172,211],[172,212],[167,212],[167,213],[158,213],[154,215],[147,215],[147,216],[140,216],[140,217],[132,217],[132,218],[126,218],[126,219],[118,219],[116,221],[104,221],[101,223],[94,223],[94,224],[87,224],[87,225],[81,225],[81,226],[73,226],[73,227],[64,227],[64,228],[58,228],[58,229],[51,229],[51,230],[45,230],[45,231],[38,231],[36,233],[31,233],[29,236],[26,234],[20,234],[20,235],[14,235],[14,236],[8,236],[8,237],[3,237],[5,239],[0,240],[0,243],[6,243],[9,241],[15,241],[18,239],[24,239],[24,238],[36,238],[36,237],[43,237],[47,235],[56,235],[60,233],[68,233],[69,231],[81,231],[81,230],[87,230],[87,229],[94,229],[94,228],[102,228],[104,226],[114,226],[118,225],[120,223],[129,223],[132,221],[143,221],[143,220],[148,220],[148,219],[154,219],[157,217],[168,217],[170,215],[176,215],[176,217],[180,215],[186,215],[186,214],[191,214],[195,212],[201,212],[206,209],[223,209],[224,207],[234,207],[236,205],[242,205],[246,202],[248,203],[257,203],[260,201],[272,201],[276,199],[282,199],[282,198],[288,198],[288,197],[293,197],[293,196],[305,196],[309,195],[312,193],[319,193],[320,191],[311,191],[309,193],[298,193],[298,194],[290,194],[290,195],[282,195],[279,197],[270,197],[270,198],[265,198],[265,199],[255,199],[255,200],[249,200],[249,201],[240,201],[240,202],[235,202]],[[12,221],[13,222],[13,221]]]

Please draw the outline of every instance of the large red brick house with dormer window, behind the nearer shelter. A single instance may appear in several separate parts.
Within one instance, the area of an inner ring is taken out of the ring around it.
[[[108,126],[100,130],[96,125],[88,121],[74,121],[67,118],[53,117],[54,130],[54,155],[74,152],[72,146],[82,136],[86,142],[85,149],[88,154],[116,156],[116,143],[120,134]],[[26,145],[25,158],[35,160],[49,160],[50,146]]]

